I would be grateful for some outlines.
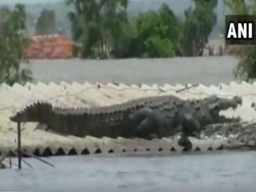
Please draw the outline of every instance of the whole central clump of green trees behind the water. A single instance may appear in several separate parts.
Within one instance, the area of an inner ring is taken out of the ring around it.
[[[135,18],[128,0],[68,0],[73,38],[83,58],[174,57],[202,55],[216,24],[218,0],[191,0],[194,6],[177,17],[168,5]]]

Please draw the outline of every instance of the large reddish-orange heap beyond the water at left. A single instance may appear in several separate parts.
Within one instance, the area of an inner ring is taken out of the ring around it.
[[[26,59],[69,59],[73,57],[73,41],[64,35],[32,37],[24,55]]]

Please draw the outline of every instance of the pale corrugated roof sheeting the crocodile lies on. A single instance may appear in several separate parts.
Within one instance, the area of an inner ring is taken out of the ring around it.
[[[188,85],[191,86],[191,85]],[[189,90],[180,91],[183,85],[138,85],[124,84],[78,84],[73,82],[67,84],[61,82],[59,85],[50,83],[48,85],[38,83],[36,85],[27,83],[22,86],[15,84],[12,87],[2,84],[0,86],[0,151],[3,153],[9,149],[16,148],[16,124],[10,121],[10,116],[35,101],[49,101],[57,107],[104,107],[113,104],[121,104],[132,99],[144,98],[148,96],[173,95],[180,99],[201,99],[216,94],[223,98],[232,98],[241,96],[243,104],[235,111],[227,110],[221,112],[229,117],[240,116],[243,121],[255,121],[256,111],[252,108],[252,103],[256,102],[256,82],[247,84],[234,82],[230,85],[221,84],[219,86],[211,85],[205,87],[198,85]],[[73,137],[60,135],[52,132],[45,132],[35,128],[37,123],[24,123],[22,127],[22,146],[29,153],[39,154],[85,154],[87,152],[102,153],[113,151],[170,151],[175,148],[176,151],[182,151],[182,147],[177,146],[177,140],[171,138],[162,138],[161,140],[146,141],[141,139],[127,140],[118,138],[93,138],[93,137]],[[225,144],[227,140],[193,139],[193,148],[199,148],[206,151],[208,148],[216,149]]]

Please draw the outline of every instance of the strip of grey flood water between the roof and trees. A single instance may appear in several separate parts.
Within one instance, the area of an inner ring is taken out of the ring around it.
[[[172,59],[30,60],[34,82],[125,84],[229,84],[235,80],[235,57],[176,57]]]

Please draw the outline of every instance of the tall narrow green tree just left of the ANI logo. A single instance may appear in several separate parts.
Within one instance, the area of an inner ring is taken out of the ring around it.
[[[194,9],[185,11],[183,54],[202,55],[208,37],[216,24],[215,8],[218,0],[192,0]]]

